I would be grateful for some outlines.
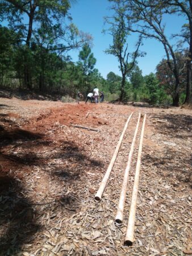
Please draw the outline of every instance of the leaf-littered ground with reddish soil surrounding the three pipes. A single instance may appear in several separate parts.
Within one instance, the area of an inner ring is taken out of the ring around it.
[[[102,200],[95,202],[132,112]],[[139,112],[147,113],[147,122],[135,242],[128,247],[141,122],[123,225],[114,218]],[[191,123],[191,110],[181,108],[1,98],[0,255],[192,254]]]

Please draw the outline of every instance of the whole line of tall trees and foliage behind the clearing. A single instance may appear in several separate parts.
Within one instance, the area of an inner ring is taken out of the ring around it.
[[[190,0],[109,0],[113,15],[105,18],[112,43],[106,54],[119,61],[122,76],[106,79],[95,68],[93,38],[78,30],[69,14],[70,1],[11,0],[0,2],[0,86],[76,97],[98,86],[106,100],[149,104],[190,104],[192,3]],[[164,15],[182,15],[186,23],[177,35],[165,35]],[[128,38],[138,36],[130,52]],[[145,38],[155,38],[165,49],[156,73],[147,76],[137,65]],[[172,40],[177,44],[172,46]],[[79,51],[74,63],[70,50]]]

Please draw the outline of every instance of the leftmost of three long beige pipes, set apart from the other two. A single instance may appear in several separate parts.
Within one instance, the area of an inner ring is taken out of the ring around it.
[[[98,189],[98,191],[97,191],[97,194],[95,195],[95,200],[98,201],[98,202],[101,200],[101,197],[102,197],[102,195],[103,195],[103,191],[104,191],[104,189],[105,189],[105,187],[106,187],[108,177],[109,177],[110,174],[111,174],[112,167],[114,166],[114,163],[115,163],[115,160],[116,160],[116,156],[118,155],[120,145],[122,144],[123,137],[124,137],[124,134],[125,134],[125,132],[126,132],[128,123],[130,122],[130,119],[131,119],[131,117],[132,117],[132,114],[133,114],[133,112],[130,114],[130,117],[128,117],[128,119],[127,119],[127,122],[126,122],[126,124],[125,124],[125,126],[124,126],[124,129],[123,129],[123,131],[122,131],[122,134],[120,135],[119,142],[118,142],[118,144],[116,145],[114,155],[112,156],[112,159],[111,159],[110,164],[108,165],[106,174],[105,174],[105,176],[103,177],[103,180],[101,181],[101,184],[100,184],[100,186],[99,186],[99,189]]]

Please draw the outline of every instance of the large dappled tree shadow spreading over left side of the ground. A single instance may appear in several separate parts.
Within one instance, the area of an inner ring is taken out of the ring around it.
[[[32,243],[37,234],[45,229],[39,217],[47,209],[38,208],[35,198],[32,201],[24,196],[29,195],[26,190],[28,176],[25,178],[25,175],[30,175],[35,168],[46,174],[49,169],[51,179],[58,188],[65,181],[71,184],[72,191],[68,195],[60,194],[48,203],[49,211],[55,213],[50,217],[53,218],[57,216],[57,209],[74,212],[81,207],[77,191],[73,189],[74,181],[81,178],[85,168],[94,171],[95,167],[102,167],[103,164],[89,158],[73,141],[56,144],[43,134],[22,129],[6,130],[4,127],[0,138],[0,255],[19,255],[23,246]],[[82,188],[85,188],[86,180],[81,182]],[[46,226],[46,229],[49,227]]]

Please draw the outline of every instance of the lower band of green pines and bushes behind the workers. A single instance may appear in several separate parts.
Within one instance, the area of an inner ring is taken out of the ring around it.
[[[31,88],[41,92],[60,93],[62,101],[71,102],[78,90],[84,94],[92,92],[95,86],[105,94],[105,101],[118,100],[122,77],[114,72],[103,79],[94,68],[95,58],[89,46],[80,51],[80,61],[75,64],[70,56],[63,57],[56,51],[32,40],[28,47],[20,43],[19,35],[8,28],[0,27],[0,74],[2,86],[24,88],[24,69],[30,73]],[[9,40],[7,40],[9,38]],[[44,43],[49,42],[49,36]],[[85,70],[85,69],[86,70]],[[85,76],[86,74],[86,76]],[[149,104],[169,104],[171,97],[153,73],[143,77],[139,67],[130,72],[130,81],[125,81],[123,101],[141,101]],[[14,82],[12,82],[14,81]],[[66,97],[65,97],[66,96]],[[185,94],[182,94],[181,101]]]

